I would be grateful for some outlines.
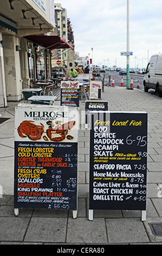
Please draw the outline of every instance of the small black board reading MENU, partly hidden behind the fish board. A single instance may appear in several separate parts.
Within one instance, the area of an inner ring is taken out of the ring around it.
[[[108,111],[108,102],[107,101],[86,101],[86,124],[89,124],[90,121],[90,111]]]

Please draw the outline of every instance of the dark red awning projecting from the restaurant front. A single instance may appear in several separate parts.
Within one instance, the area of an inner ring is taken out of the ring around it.
[[[72,50],[74,50],[74,48],[59,35],[28,35],[24,36],[24,38],[49,50],[62,48],[72,48]]]

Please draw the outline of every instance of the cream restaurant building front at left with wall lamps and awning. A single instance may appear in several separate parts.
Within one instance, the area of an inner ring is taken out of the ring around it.
[[[71,47],[55,27],[54,0],[0,0],[0,107],[51,77],[51,51]]]

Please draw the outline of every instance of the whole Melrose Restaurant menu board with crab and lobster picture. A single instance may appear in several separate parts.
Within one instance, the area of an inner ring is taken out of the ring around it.
[[[15,109],[14,208],[77,209],[77,108]]]

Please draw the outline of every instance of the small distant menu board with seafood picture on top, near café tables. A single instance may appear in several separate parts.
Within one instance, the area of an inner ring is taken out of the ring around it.
[[[79,107],[79,81],[61,82],[61,106]]]

